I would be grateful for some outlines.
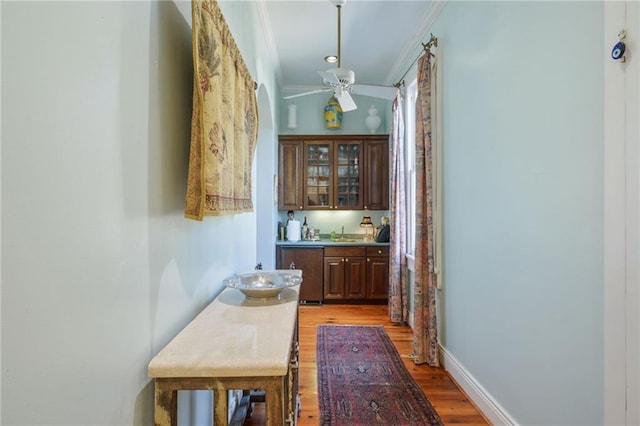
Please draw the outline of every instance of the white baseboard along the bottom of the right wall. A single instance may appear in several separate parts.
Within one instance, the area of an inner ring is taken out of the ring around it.
[[[445,370],[462,387],[482,414],[494,425],[517,425],[516,421],[502,408],[498,402],[482,387],[480,383],[464,368],[462,364],[439,345],[440,359]]]

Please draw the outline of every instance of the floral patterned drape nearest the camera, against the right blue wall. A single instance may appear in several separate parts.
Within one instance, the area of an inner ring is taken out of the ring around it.
[[[413,360],[440,364],[436,324],[436,274],[433,227],[433,157],[431,139],[431,52],[418,62],[416,100],[416,263]]]

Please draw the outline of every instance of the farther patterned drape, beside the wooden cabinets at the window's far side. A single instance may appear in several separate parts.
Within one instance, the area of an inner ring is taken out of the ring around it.
[[[389,318],[396,324],[406,324],[407,301],[407,212],[405,179],[405,137],[402,116],[402,95],[393,101],[391,133],[391,213],[389,244]]]

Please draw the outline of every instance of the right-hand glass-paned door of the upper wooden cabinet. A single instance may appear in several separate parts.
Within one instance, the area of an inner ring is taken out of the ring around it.
[[[335,200],[333,208],[362,210],[362,143],[334,142]]]

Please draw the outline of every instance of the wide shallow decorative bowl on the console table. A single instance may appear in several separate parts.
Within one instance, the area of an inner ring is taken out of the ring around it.
[[[285,288],[302,282],[302,278],[281,272],[252,272],[236,274],[223,280],[225,286],[240,290],[252,299],[268,299],[276,297]]]

